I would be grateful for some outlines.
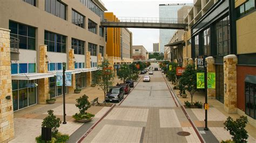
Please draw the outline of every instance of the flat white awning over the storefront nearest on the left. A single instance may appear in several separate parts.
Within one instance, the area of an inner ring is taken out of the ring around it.
[[[34,73],[34,74],[18,74],[12,75],[12,80],[37,80],[41,78],[53,77],[53,73]]]

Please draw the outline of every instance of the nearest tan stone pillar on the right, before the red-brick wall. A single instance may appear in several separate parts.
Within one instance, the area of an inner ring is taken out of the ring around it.
[[[224,110],[237,113],[237,56],[224,56]]]

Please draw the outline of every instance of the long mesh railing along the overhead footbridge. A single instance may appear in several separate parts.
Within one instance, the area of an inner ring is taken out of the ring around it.
[[[113,17],[104,17],[102,22],[115,22]],[[158,18],[158,17],[117,17],[118,22],[125,23],[167,23],[167,24],[187,24],[184,18]]]

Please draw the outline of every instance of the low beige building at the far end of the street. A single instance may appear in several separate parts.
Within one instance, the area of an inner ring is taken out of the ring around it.
[[[149,53],[143,45],[132,46],[133,60],[149,60]]]

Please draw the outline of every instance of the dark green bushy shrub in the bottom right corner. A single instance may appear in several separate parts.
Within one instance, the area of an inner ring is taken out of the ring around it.
[[[224,123],[224,128],[230,132],[234,142],[246,142],[246,139],[248,139],[248,134],[245,130],[247,123],[248,119],[245,116],[241,116],[235,121],[229,116]]]

